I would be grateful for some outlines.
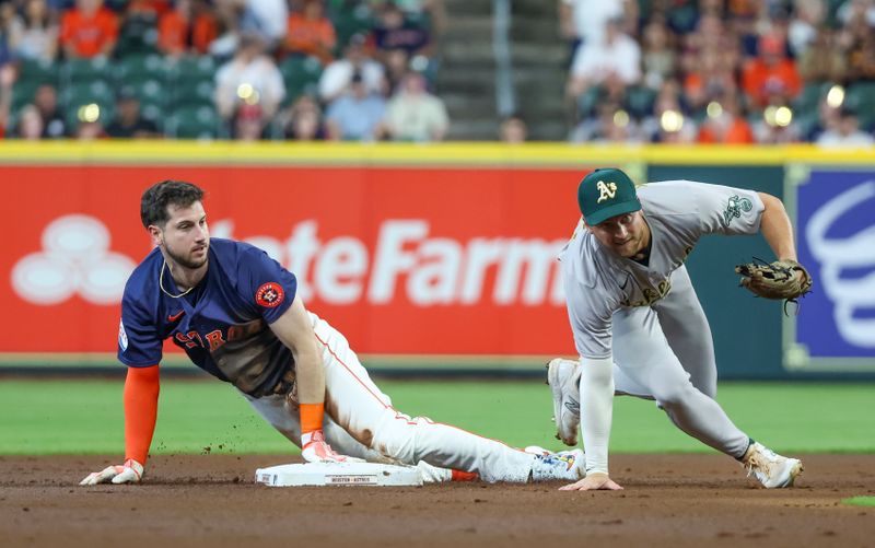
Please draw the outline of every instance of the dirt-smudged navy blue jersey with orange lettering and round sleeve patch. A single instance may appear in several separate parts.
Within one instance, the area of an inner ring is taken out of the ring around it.
[[[133,270],[121,300],[118,359],[155,365],[164,339],[195,364],[253,396],[270,393],[294,365],[268,327],[292,305],[294,275],[249,244],[210,238],[207,275],[191,293],[173,298],[159,285],[164,257],[155,248]],[[164,289],[180,291],[164,269]]]

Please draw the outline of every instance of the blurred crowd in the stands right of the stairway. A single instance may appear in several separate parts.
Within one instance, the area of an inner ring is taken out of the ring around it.
[[[875,0],[559,0],[570,140],[875,140]]]

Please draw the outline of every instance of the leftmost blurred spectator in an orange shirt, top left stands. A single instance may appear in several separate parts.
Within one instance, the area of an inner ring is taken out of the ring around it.
[[[215,18],[202,0],[176,0],[159,21],[159,49],[168,56],[206,55],[219,34]]]

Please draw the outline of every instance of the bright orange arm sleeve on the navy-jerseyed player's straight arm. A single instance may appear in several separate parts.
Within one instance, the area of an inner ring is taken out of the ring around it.
[[[125,380],[125,458],[145,464],[158,420],[159,366],[128,368]]]

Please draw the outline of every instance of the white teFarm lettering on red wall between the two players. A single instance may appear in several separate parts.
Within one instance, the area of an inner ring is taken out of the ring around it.
[[[234,237],[234,223],[217,221],[214,237]],[[245,240],[298,277],[304,302],[417,306],[564,306],[557,255],[567,238],[472,236],[467,241],[431,234],[425,219],[387,219],[376,242],[353,236],[326,238],[315,220],[299,222],[288,240]]]

